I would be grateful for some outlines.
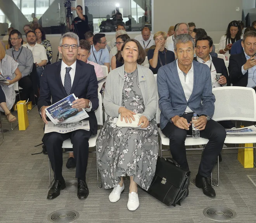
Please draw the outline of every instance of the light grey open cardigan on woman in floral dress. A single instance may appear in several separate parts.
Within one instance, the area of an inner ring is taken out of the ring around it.
[[[142,65],[138,65],[138,80],[140,90],[145,105],[143,115],[151,121],[156,114],[156,80],[151,70]],[[118,109],[122,103],[122,93],[124,87],[125,65],[118,67],[107,75],[105,93],[104,93],[104,108],[107,115],[118,117]]]

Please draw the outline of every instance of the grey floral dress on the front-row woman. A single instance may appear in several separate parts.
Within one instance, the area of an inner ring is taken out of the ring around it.
[[[143,113],[145,106],[138,81],[138,70],[124,76],[122,106]],[[149,189],[156,171],[158,134],[156,120],[147,129],[119,128],[115,117],[108,117],[97,138],[97,163],[105,189],[117,186],[120,177],[133,176],[133,181]]]

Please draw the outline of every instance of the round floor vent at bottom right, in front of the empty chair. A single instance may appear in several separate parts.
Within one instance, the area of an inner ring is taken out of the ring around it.
[[[204,209],[204,216],[214,221],[230,221],[237,216],[235,211],[230,208],[213,206]]]

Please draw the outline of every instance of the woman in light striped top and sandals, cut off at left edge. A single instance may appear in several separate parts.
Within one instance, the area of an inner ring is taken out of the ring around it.
[[[14,122],[16,117],[10,113],[16,98],[14,86],[12,84],[21,79],[21,72],[19,71],[18,63],[5,53],[5,48],[3,48],[1,44],[0,60],[0,78],[7,79],[8,81],[8,84],[0,83],[0,111],[5,113],[5,116],[9,122]]]

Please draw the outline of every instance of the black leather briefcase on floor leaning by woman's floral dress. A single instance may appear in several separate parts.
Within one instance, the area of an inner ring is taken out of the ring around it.
[[[189,191],[190,171],[180,168],[172,158],[158,156],[156,173],[148,193],[167,206],[181,204]]]

